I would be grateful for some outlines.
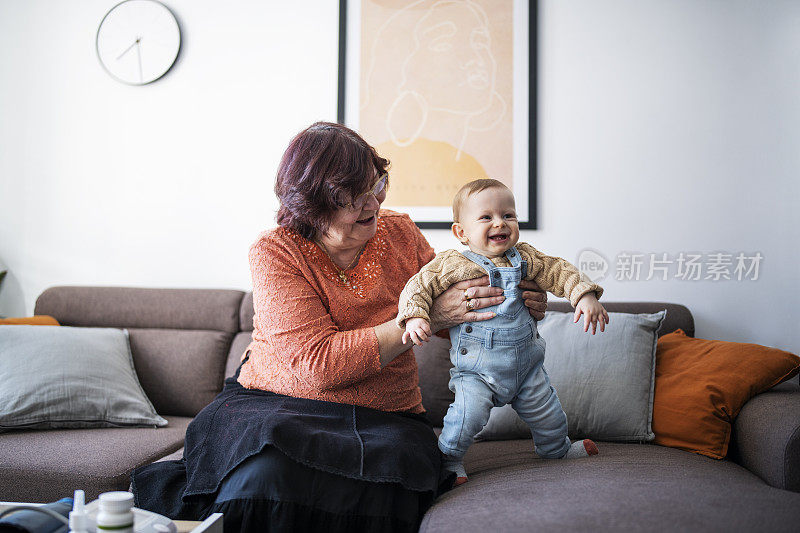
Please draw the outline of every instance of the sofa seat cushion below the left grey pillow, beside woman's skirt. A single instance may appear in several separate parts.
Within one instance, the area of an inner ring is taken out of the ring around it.
[[[0,501],[50,502],[127,490],[137,466],[180,449],[189,417],[162,428],[13,431],[0,435]]]

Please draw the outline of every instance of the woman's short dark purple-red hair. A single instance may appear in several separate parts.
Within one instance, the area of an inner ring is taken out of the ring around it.
[[[325,233],[336,210],[366,192],[388,166],[355,131],[315,122],[292,139],[278,166],[278,224],[306,239]]]

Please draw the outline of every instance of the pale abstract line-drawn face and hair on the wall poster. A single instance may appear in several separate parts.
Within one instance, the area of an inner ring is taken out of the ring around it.
[[[460,121],[456,160],[461,158],[471,131],[489,131],[506,115],[508,105],[495,88],[497,61],[486,12],[471,0],[440,0],[427,9],[425,0],[415,2],[391,16],[377,32],[370,49],[370,66],[364,80],[360,109],[370,104],[371,79],[378,57],[376,47],[393,23],[413,14],[413,48],[403,59],[396,94],[386,112],[385,128],[397,146],[413,144],[437,113]],[[434,115],[433,117],[431,115]],[[398,118],[417,124],[398,126]]]

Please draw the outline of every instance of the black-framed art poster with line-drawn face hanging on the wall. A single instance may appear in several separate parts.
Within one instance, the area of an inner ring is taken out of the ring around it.
[[[495,178],[536,228],[536,1],[340,0],[338,120],[391,161],[384,207],[449,228]]]

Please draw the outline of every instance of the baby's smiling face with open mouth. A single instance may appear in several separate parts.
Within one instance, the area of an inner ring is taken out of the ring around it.
[[[505,187],[470,194],[461,206],[460,218],[453,224],[456,239],[483,256],[500,257],[519,240],[514,195]]]

